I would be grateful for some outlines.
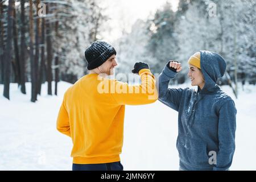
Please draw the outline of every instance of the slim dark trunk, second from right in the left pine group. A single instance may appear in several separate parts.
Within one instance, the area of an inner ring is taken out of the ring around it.
[[[46,6],[46,13],[49,14],[49,3]],[[51,24],[46,22],[46,44],[47,44],[47,82],[48,95],[52,95],[52,43],[51,43]]]

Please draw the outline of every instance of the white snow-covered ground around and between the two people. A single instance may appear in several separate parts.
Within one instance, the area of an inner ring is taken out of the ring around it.
[[[56,130],[56,117],[63,94],[70,86],[59,83],[59,96],[47,96],[43,85],[38,102],[10,85],[11,101],[0,85],[0,170],[71,170],[71,139]],[[184,88],[186,85],[180,85]],[[231,170],[256,170],[256,86],[246,85],[236,102],[236,152]],[[177,170],[177,112],[159,101],[151,105],[126,106],[125,136],[121,162],[125,170]]]

